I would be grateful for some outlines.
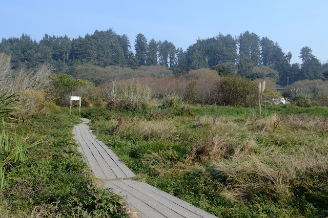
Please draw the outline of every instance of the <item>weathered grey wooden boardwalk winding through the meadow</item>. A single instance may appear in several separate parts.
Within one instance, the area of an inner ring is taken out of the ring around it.
[[[134,173],[92,134],[88,126],[90,120],[81,120],[83,123],[73,129],[79,151],[94,175],[106,181],[105,187],[126,197],[129,206],[140,217],[216,217],[147,183],[127,179],[135,177]]]

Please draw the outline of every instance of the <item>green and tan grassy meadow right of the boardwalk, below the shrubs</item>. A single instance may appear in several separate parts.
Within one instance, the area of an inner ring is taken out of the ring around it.
[[[326,107],[189,108],[82,114],[139,180],[219,217],[328,214]]]

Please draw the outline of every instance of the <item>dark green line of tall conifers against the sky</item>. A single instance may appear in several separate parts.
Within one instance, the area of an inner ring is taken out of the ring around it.
[[[138,66],[166,66],[176,75],[190,70],[211,68],[219,74],[238,74],[248,78],[271,77],[286,85],[303,79],[328,76],[327,63],[321,64],[309,47],[303,47],[302,63],[291,64],[292,53],[284,53],[277,42],[260,38],[245,31],[233,37],[219,33],[215,37],[197,39],[186,51],[168,40],[147,40],[139,33],[134,50],[126,34],[113,29],[96,30],[85,37],[69,38],[45,34],[37,42],[27,34],[19,38],[2,38],[0,52],[11,56],[14,69],[35,68],[39,63],[52,63],[60,71],[65,66],[90,63],[95,66],[119,66],[135,69]]]

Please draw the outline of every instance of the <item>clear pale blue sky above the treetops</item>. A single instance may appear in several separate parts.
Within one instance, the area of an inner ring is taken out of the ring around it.
[[[131,45],[142,33],[148,40],[171,41],[186,50],[200,37],[218,33],[233,37],[245,31],[277,41],[282,51],[300,62],[309,46],[322,62],[328,60],[328,1],[5,1],[0,4],[0,37],[22,33],[39,41],[45,33],[70,38],[95,30],[127,34]]]

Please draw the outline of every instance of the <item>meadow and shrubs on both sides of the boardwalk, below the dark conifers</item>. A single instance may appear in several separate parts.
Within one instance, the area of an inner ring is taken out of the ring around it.
[[[52,71],[13,71],[0,54],[0,216],[129,216],[77,151],[79,117],[137,180],[219,217],[328,215],[326,81],[270,105],[281,97],[270,80],[210,69],[100,86]],[[70,96],[81,113],[69,115]]]

